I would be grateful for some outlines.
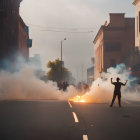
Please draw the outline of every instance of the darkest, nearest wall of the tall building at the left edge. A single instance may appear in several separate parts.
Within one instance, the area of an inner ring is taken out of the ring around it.
[[[18,0],[0,0],[0,67],[3,67],[2,61],[11,60],[17,50],[18,16]]]

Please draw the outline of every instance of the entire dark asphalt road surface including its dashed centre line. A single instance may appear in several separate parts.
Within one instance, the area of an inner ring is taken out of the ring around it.
[[[2,101],[0,140],[140,140],[140,104]]]

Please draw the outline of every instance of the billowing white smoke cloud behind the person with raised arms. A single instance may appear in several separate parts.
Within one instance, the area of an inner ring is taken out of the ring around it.
[[[107,70],[107,73],[103,73],[103,79],[97,79],[92,83],[91,89],[82,96],[88,102],[111,102],[114,92],[114,85],[111,84],[111,78],[116,82],[116,78],[121,79],[120,82],[125,83],[128,80],[126,86],[122,86],[122,99],[128,100],[140,100],[138,91],[139,85],[136,84],[137,79],[131,76],[124,64],[117,65],[115,68],[111,67]]]

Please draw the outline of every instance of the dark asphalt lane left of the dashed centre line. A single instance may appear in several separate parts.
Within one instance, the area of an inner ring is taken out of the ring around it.
[[[0,102],[0,140],[81,140],[67,102]]]

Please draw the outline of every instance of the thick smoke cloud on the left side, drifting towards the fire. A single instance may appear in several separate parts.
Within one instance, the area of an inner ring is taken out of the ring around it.
[[[14,70],[16,72],[0,71],[0,100],[66,100],[75,96],[76,89],[72,86],[64,94],[57,83],[40,80],[36,76],[39,70],[37,63],[27,64],[22,57],[18,57]]]

